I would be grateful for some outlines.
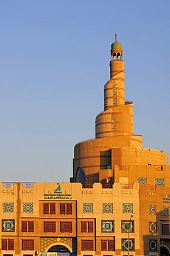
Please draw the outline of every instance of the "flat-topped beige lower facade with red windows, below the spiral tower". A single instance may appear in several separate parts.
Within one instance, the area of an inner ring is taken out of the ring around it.
[[[65,255],[127,255],[128,236],[131,255],[159,255],[169,248],[169,203],[162,185],[1,183],[1,255],[55,255],[53,246]]]

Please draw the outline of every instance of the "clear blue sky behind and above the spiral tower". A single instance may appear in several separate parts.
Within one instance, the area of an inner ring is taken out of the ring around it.
[[[169,0],[0,2],[1,181],[69,181],[95,137],[114,33],[143,147],[169,153]]]

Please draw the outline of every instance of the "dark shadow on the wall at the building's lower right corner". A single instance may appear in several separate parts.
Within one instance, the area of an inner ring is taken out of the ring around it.
[[[156,205],[149,205],[149,214],[155,215]],[[153,218],[151,218],[153,219]],[[149,221],[149,235],[144,239],[144,255],[155,253],[160,256],[170,256],[170,218],[169,206],[164,206],[156,214],[156,221]]]

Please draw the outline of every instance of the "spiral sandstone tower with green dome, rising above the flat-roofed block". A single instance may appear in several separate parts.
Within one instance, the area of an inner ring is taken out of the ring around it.
[[[144,176],[153,184],[155,172],[167,164],[165,152],[143,148],[142,136],[133,134],[133,102],[125,100],[123,49],[115,34],[110,80],[104,85],[104,111],[95,118],[95,138],[75,145],[70,181],[128,183]]]

